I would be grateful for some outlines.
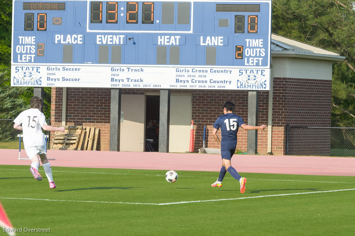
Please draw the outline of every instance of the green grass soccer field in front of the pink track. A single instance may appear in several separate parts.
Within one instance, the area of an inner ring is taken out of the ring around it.
[[[241,173],[242,194],[229,173],[213,188],[218,172],[53,167],[49,189],[28,169],[0,165],[0,201],[16,229],[50,233],[17,235],[354,235],[355,177]]]

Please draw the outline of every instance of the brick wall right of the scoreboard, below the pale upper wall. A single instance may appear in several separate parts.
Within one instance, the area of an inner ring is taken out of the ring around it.
[[[331,80],[274,78],[273,88],[273,154],[286,154],[287,124],[331,126]]]

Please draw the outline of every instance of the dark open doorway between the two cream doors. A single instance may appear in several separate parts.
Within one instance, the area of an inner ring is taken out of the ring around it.
[[[159,149],[159,96],[146,96],[146,152]]]

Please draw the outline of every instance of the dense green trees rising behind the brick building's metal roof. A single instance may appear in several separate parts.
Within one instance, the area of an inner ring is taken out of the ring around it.
[[[355,127],[355,17],[350,0],[274,0],[273,33],[338,52],[333,63],[332,126]]]

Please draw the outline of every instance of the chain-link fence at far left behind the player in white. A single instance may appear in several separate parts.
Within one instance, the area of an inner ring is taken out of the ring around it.
[[[46,122],[49,124],[49,120]],[[49,135],[48,131],[44,133]],[[0,119],[0,149],[18,149],[20,139],[17,135],[19,134],[22,134],[22,131],[13,128],[13,119]],[[22,139],[21,149],[24,149]]]

